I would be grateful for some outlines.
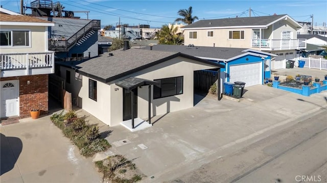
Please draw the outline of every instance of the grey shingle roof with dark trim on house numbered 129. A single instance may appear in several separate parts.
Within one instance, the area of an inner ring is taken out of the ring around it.
[[[78,71],[82,74],[84,73],[84,75],[94,77],[98,81],[104,83],[119,79],[125,75],[178,56],[197,60],[217,67],[224,67],[219,63],[209,62],[196,57],[181,54],[176,51],[155,51],[130,48],[128,50],[114,50],[110,53],[112,53],[113,56],[109,56],[109,54],[106,53],[86,61],[58,62],[58,64],[69,68],[78,69]]]

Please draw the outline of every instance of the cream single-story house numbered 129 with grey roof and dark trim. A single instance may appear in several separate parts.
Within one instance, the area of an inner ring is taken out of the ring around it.
[[[56,64],[66,80],[66,91],[80,108],[110,126],[131,120],[131,128],[134,119],[151,123],[153,116],[193,107],[194,71],[224,68],[178,51],[126,45],[85,61]]]

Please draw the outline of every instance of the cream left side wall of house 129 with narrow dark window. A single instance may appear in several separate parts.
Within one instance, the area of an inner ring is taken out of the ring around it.
[[[89,79],[87,76],[82,76],[82,87],[78,94],[82,98],[82,108],[105,124],[110,125],[110,86],[97,81],[97,101],[95,101],[88,97]]]

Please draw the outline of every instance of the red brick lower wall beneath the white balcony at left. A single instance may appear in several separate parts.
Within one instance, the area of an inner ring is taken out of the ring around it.
[[[19,80],[19,117],[30,117],[32,109],[48,113],[48,74],[2,77],[0,81]],[[30,84],[27,84],[30,81]]]

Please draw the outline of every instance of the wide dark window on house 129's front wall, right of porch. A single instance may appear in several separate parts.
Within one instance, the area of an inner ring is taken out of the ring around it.
[[[154,80],[160,87],[154,85],[153,98],[163,98],[183,94],[183,76]]]

